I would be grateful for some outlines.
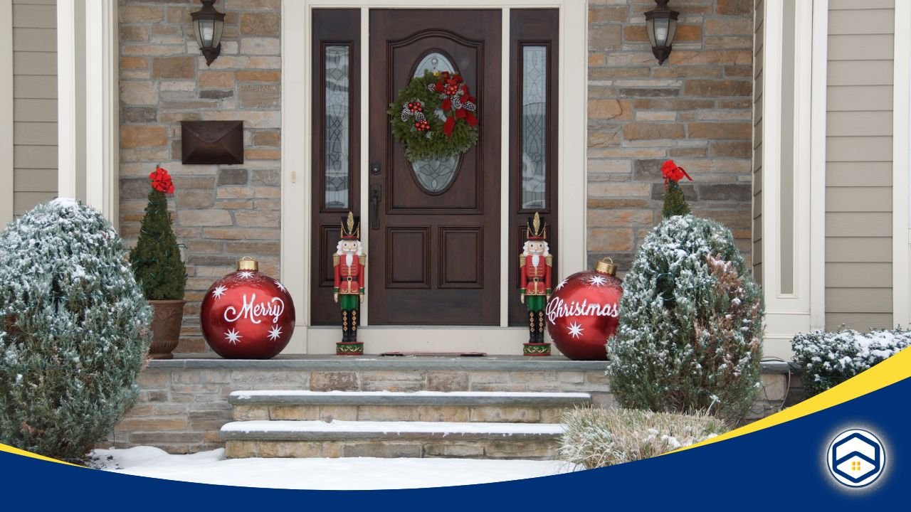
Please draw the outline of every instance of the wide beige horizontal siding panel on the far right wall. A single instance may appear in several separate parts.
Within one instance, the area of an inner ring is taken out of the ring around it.
[[[825,326],[892,326],[894,0],[829,4]]]

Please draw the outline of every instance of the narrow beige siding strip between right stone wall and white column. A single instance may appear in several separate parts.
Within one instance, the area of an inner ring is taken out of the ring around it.
[[[763,0],[756,0],[753,18],[752,108],[752,273],[763,284]]]

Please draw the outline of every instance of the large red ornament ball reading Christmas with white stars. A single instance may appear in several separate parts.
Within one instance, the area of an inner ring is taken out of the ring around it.
[[[617,332],[622,283],[611,262],[596,270],[576,272],[554,288],[548,302],[550,339],[561,353],[577,361],[604,361],[606,345]]]

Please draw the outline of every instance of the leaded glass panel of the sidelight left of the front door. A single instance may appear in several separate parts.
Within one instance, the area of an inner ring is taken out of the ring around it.
[[[348,208],[348,174],[350,160],[348,142],[351,104],[348,80],[351,77],[348,46],[326,46],[325,69],[325,207]]]

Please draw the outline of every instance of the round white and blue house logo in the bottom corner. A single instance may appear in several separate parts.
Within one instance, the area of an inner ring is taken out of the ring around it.
[[[865,487],[885,469],[885,447],[871,432],[847,430],[836,435],[826,451],[829,472],[843,486]]]

